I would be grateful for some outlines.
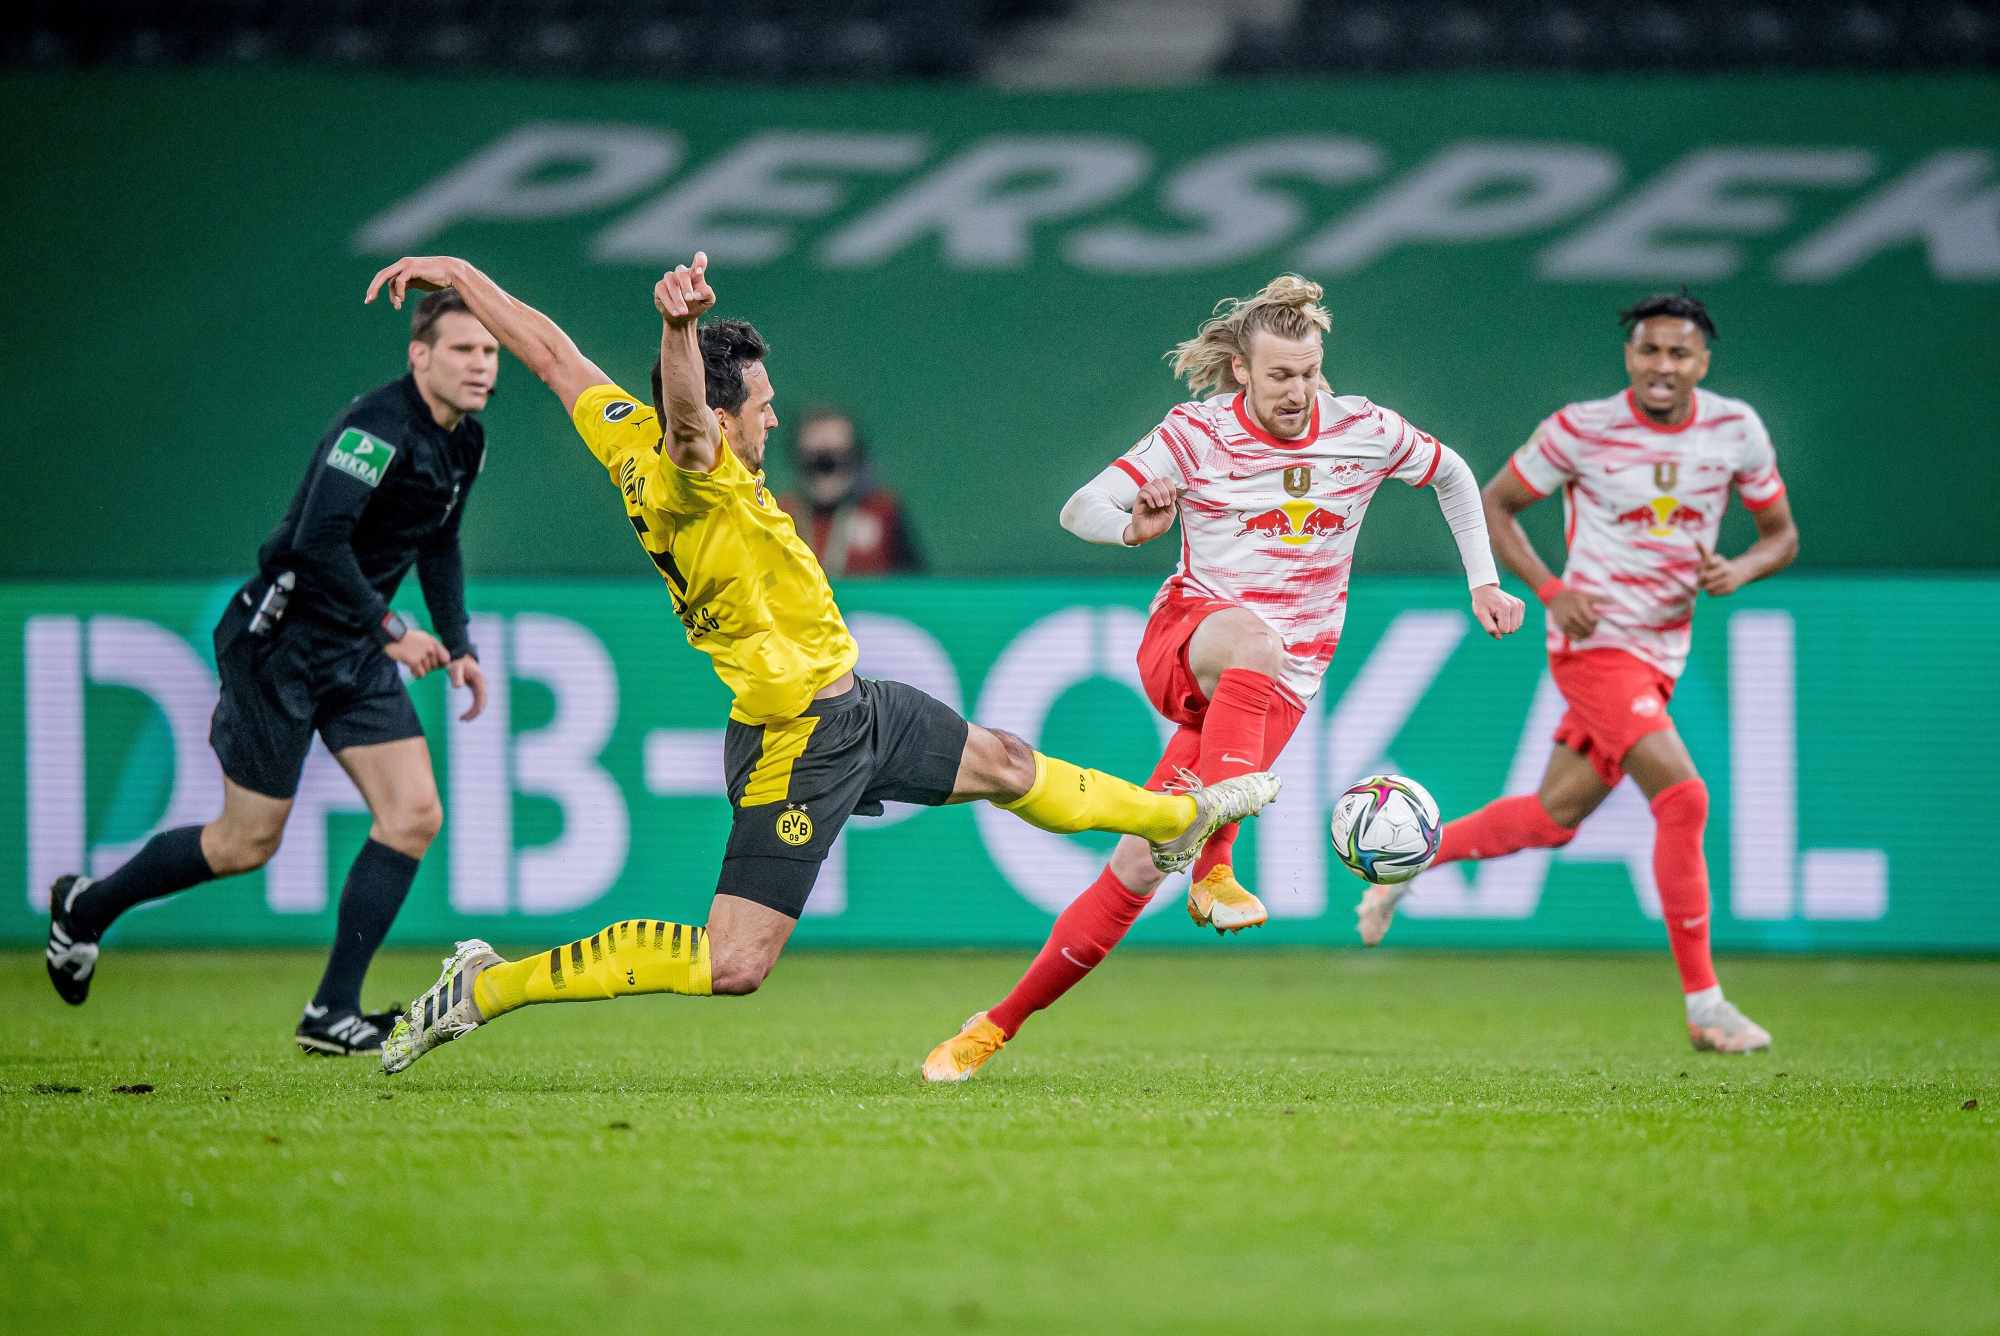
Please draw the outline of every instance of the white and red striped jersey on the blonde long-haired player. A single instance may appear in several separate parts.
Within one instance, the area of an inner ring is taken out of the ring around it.
[[[1180,568],[1154,608],[1218,598],[1256,612],[1284,638],[1284,684],[1310,700],[1340,644],[1368,502],[1384,478],[1426,486],[1446,454],[1358,394],[1322,390],[1296,440],[1258,426],[1242,394],[1218,394],[1174,408],[1116,468],[1180,492]]]

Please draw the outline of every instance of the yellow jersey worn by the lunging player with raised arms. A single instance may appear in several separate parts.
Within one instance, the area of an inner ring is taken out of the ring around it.
[[[730,718],[798,716],[854,666],[826,572],[792,518],[724,440],[714,470],[690,474],[662,450],[654,410],[618,386],[592,386],[570,414],[624,494],[626,518],[674,596],[688,644],[734,692]]]

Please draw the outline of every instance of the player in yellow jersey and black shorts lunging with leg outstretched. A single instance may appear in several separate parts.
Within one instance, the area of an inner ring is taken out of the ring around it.
[[[650,408],[548,316],[464,260],[398,260],[368,286],[366,300],[386,284],[398,308],[408,290],[454,288],[556,392],[624,494],[688,644],[710,656],[734,694],[724,734],[734,824],[708,924],[624,920],[522,960],[460,942],[396,1022],[382,1048],[388,1072],[530,1002],[754,992],[842,824],[854,812],[880,812],[884,800],[984,798],[1042,830],[1140,836],[1162,870],[1180,870],[1216,828],[1278,794],[1268,772],[1154,794],[968,724],[902,682],[856,678],[854,636],[826,574],[764,486],[764,440],[778,426],[768,348],[742,320],[698,324],[716,302],[706,268],[708,256],[696,254],[654,286],[662,334]],[[968,1032],[980,1024],[976,1016]],[[992,1038],[996,1048],[1004,1042],[996,1028]]]

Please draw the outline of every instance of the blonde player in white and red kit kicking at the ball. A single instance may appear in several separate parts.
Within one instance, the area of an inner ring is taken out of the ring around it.
[[[1438,490],[1480,626],[1498,638],[1522,622],[1522,602],[1500,588],[1466,462],[1388,408],[1328,388],[1320,286],[1286,274],[1218,312],[1168,354],[1202,398],[1174,408],[1062,508],[1078,538],[1128,548],[1180,520],[1180,568],[1154,598],[1138,650],[1148,698],[1180,724],[1148,788],[1186,772],[1208,784],[1278,758],[1340,644],[1354,540],[1390,478]],[[1210,836],[1188,888],[1188,916],[1216,932],[1266,918],[1230,866],[1234,840],[1234,826]],[[1104,960],[1160,880],[1146,846],[1122,840],[1006,1000],[938,1044],[924,1076],[978,1070]]]

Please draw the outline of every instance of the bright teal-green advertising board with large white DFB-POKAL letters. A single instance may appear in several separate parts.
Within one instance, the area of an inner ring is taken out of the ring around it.
[[[104,872],[150,830],[214,814],[208,632],[232,588],[0,586],[0,700],[16,702],[0,712],[6,942],[42,940],[52,876]],[[1148,580],[840,590],[870,676],[1134,778],[1162,742],[1134,668],[1150,596]],[[472,606],[494,698],[458,724],[438,676],[412,686],[446,826],[392,940],[536,944],[624,916],[702,918],[728,828],[728,702],[658,582],[476,582]],[[1712,794],[1720,948],[2000,950],[1996,660],[2000,580],[1786,576],[1704,600],[1674,718]],[[1560,710],[1536,626],[1492,642],[1462,580],[1360,580],[1278,766],[1284,794],[1238,846],[1272,922],[1220,948],[1352,946],[1362,884],[1328,850],[1334,796],[1374,770],[1416,776],[1446,816],[1530,790]],[[268,868],[134,912],[114,940],[324,942],[366,828],[316,752]],[[890,810],[836,844],[798,940],[1030,946],[1106,848],[986,804]],[[1650,850],[1626,784],[1564,850],[1428,872],[1390,942],[1660,946]],[[1180,886],[1134,940],[1216,946],[1178,910]]]

